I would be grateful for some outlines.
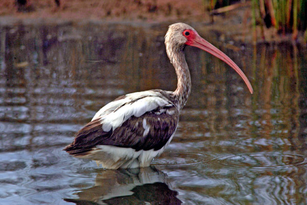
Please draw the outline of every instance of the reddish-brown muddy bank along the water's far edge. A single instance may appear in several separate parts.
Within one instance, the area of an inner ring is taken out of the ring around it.
[[[59,2],[59,4],[57,4]],[[0,0],[0,26],[14,25],[114,25],[166,28],[175,22],[192,25],[201,33],[214,33],[218,42],[236,50],[236,44],[300,44],[303,33],[293,40],[291,34],[279,35],[275,28],[252,26],[249,2],[238,8],[210,16],[208,6],[201,0],[192,1],[14,1]],[[165,32],[166,29],[162,32]],[[159,29],[158,29],[159,30]]]

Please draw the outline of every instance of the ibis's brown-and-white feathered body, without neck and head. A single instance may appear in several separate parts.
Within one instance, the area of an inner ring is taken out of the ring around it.
[[[150,90],[118,97],[76,134],[78,149],[67,151],[108,169],[148,167],[178,125],[179,110],[169,94]]]

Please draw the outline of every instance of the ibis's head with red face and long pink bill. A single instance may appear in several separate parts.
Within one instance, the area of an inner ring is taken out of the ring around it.
[[[165,46],[168,57],[173,61],[173,53],[183,52],[186,45],[200,48],[215,57],[220,58],[233,68],[244,80],[249,91],[253,93],[253,88],[243,71],[225,53],[202,38],[192,27],[184,23],[172,24],[168,27],[165,35]]]

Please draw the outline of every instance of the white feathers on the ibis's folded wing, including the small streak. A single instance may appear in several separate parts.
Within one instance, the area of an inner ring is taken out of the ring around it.
[[[101,108],[95,114],[92,121],[94,119],[100,118],[100,123],[102,124],[103,131],[109,132],[111,129],[115,130],[116,128],[120,127],[123,122],[129,119],[131,116],[140,117],[146,112],[163,106],[172,106],[172,104],[170,104],[167,98],[162,96],[159,92],[144,91],[131,93],[127,94],[125,98],[112,101],[111,103]],[[144,132],[146,135],[149,132],[149,126],[147,130],[145,129]]]

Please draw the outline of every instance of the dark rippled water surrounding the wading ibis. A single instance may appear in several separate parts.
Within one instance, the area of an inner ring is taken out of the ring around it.
[[[119,95],[174,90],[166,26],[0,28],[0,204],[307,204],[307,53],[202,33],[244,70],[187,48],[192,93],[153,167],[62,151]],[[231,48],[231,49],[227,49]]]

